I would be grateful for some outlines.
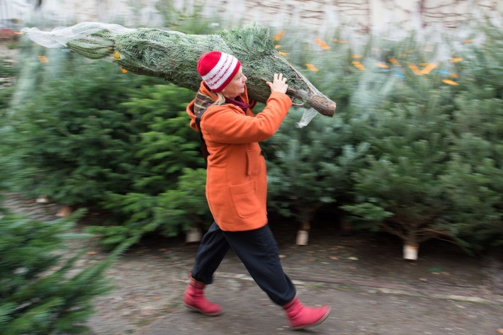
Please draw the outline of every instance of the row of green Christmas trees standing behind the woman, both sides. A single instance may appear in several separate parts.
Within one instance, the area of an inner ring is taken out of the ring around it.
[[[264,142],[271,208],[297,218],[302,234],[324,211],[413,248],[431,238],[467,251],[502,243],[501,30],[360,46],[290,35],[277,48],[338,110],[299,129],[294,108]],[[11,187],[110,210],[111,222],[92,229],[105,244],[211,222],[183,111],[193,92],[65,50],[21,51],[1,127]]]

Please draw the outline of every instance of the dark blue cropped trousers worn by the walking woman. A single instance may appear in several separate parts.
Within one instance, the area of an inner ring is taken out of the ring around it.
[[[295,286],[283,271],[276,239],[269,225],[244,232],[224,232],[213,222],[200,242],[192,277],[205,284],[232,248],[250,276],[276,305],[286,305],[295,297]]]

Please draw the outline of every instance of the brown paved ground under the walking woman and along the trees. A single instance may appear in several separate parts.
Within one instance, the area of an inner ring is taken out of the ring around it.
[[[40,220],[57,205],[9,197],[9,208]],[[196,244],[146,239],[108,271],[115,289],[96,299],[95,335],[492,335],[503,334],[503,254],[470,257],[451,244],[422,244],[418,261],[404,261],[386,236],[343,237],[334,225],[315,226],[310,245],[295,245],[295,227],[271,222],[283,266],[306,305],[332,306],[320,326],[292,331],[230,253],[207,296],[225,310],[205,317],[181,304]],[[78,266],[101,259],[94,244]]]

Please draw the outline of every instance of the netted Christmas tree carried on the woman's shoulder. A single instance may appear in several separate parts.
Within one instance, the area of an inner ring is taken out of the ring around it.
[[[220,30],[216,35],[188,35],[155,28],[125,28],[121,25],[84,22],[52,31],[24,28],[22,32],[44,47],[67,47],[90,59],[103,59],[135,74],[157,76],[197,91],[200,55],[210,50],[237,57],[247,74],[250,98],[265,103],[270,89],[265,83],[274,73],[288,78],[288,95],[295,106],[305,108],[298,123],[303,127],[320,113],[332,116],[334,101],[324,96],[275,49],[266,28]]]

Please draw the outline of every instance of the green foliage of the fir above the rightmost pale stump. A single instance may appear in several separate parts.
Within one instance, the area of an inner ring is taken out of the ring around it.
[[[395,74],[388,76],[394,81]],[[357,202],[344,210],[360,217],[359,227],[384,229],[419,244],[448,236],[439,228],[447,203],[439,176],[451,145],[452,94],[438,76],[402,72],[386,101],[367,110],[357,132],[370,143],[368,166],[354,171]],[[356,226],[358,227],[358,225]]]

